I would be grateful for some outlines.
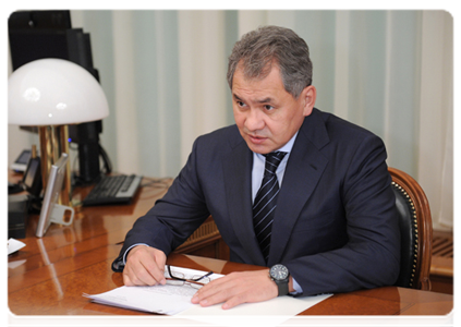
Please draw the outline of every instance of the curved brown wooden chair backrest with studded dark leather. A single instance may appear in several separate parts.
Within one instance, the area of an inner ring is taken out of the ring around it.
[[[400,218],[401,263],[396,286],[430,290],[433,222],[427,197],[408,173],[389,168]]]

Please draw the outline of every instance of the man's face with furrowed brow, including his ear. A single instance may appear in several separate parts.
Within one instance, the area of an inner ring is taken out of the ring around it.
[[[268,154],[286,145],[311,114],[315,88],[307,86],[295,99],[284,89],[277,64],[264,80],[246,80],[238,66],[232,98],[235,123],[250,149]]]

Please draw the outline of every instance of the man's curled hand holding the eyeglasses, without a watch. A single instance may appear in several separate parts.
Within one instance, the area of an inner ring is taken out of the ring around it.
[[[160,250],[146,245],[133,247],[126,256],[123,269],[125,286],[155,286],[165,284],[163,276],[167,256]]]

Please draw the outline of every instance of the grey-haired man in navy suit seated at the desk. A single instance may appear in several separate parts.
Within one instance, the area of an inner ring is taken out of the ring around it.
[[[194,303],[230,308],[392,284],[400,234],[385,146],[314,108],[305,41],[276,26],[244,35],[228,82],[236,124],[198,137],[168,193],[135,222],[112,265],[124,267],[124,283],[165,283],[167,255],[213,215],[231,261],[270,270],[217,279]]]

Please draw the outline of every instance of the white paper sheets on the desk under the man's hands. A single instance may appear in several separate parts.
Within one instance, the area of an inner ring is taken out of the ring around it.
[[[186,278],[194,275],[205,275],[206,271],[171,267],[182,272]],[[222,275],[213,274],[211,279]],[[222,326],[271,327],[280,325],[311,306],[331,296],[331,294],[291,298],[280,296],[265,302],[244,303],[230,310],[222,310],[222,304],[202,307],[192,304],[191,299],[196,292],[187,286],[155,286],[155,287],[120,287],[112,291],[84,296],[94,302],[120,306],[150,313],[167,314],[175,317],[205,322]]]

